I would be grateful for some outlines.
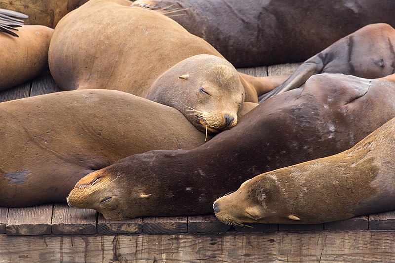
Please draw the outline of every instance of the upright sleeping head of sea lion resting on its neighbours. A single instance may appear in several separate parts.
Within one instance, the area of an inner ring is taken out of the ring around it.
[[[200,131],[217,133],[237,124],[244,88],[228,61],[197,55],[159,76],[147,99],[178,109]]]

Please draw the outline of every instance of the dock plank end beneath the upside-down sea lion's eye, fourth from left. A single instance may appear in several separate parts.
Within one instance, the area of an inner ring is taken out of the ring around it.
[[[139,234],[143,231],[143,219],[133,218],[129,220],[108,220],[99,214],[97,220],[98,234]]]

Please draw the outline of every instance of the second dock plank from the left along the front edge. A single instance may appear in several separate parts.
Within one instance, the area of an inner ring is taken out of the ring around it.
[[[9,208],[7,235],[49,235],[52,205]]]

